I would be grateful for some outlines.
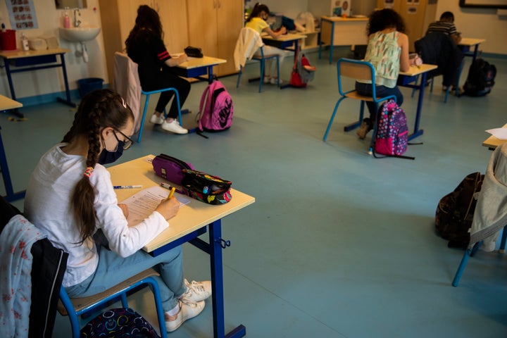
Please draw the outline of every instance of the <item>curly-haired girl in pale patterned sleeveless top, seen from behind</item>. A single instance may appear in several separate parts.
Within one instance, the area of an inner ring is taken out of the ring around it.
[[[405,34],[405,23],[401,15],[392,9],[374,11],[368,20],[368,46],[364,61],[372,63],[375,68],[375,84],[371,82],[356,82],[358,94],[372,96],[372,86],[375,85],[377,96],[396,96],[398,106],[403,104],[403,95],[396,86],[399,71],[406,72],[410,68],[408,60],[408,36]],[[365,118],[357,132],[358,137],[364,139],[377,116],[377,105],[367,101],[370,117]]]

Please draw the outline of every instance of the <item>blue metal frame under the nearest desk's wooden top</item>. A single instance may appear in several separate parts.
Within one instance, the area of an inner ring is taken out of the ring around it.
[[[209,243],[204,242],[198,238],[199,235],[206,233],[206,226],[201,227],[199,230],[190,232],[184,237],[180,237],[174,242],[165,244],[160,248],[151,251],[153,256],[158,256],[165,251],[173,249],[186,242],[196,246],[202,251],[210,255],[211,263],[211,299],[213,303],[213,337],[215,338],[239,338],[246,335],[246,327],[239,325],[231,332],[225,334],[225,316],[224,316],[224,301],[223,301],[223,260],[222,249],[230,246],[230,241],[222,239],[222,220],[215,220],[215,222],[208,224],[209,228]]]

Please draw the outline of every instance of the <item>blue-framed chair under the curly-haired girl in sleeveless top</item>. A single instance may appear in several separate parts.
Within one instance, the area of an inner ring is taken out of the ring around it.
[[[334,120],[334,116],[336,115],[338,111],[339,104],[342,103],[344,99],[355,99],[361,101],[361,109],[359,111],[359,119],[356,122],[353,122],[349,125],[346,125],[344,127],[344,131],[348,132],[349,130],[353,130],[359,125],[361,125],[361,122],[363,121],[363,115],[364,115],[364,106],[365,101],[374,102],[377,106],[377,111],[379,104],[382,101],[386,101],[389,99],[394,99],[396,101],[396,96],[389,95],[389,96],[382,96],[377,97],[377,93],[375,90],[375,86],[373,86],[373,95],[372,96],[363,96],[358,94],[356,92],[356,89],[344,89],[344,84],[342,82],[342,77],[348,77],[353,80],[365,80],[365,81],[371,81],[372,83],[375,83],[375,68],[373,68],[373,65],[366,61],[358,61],[353,60],[350,58],[340,58],[337,61],[337,77],[338,77],[338,92],[340,94],[340,98],[338,99],[336,105],[334,106],[334,111],[331,114],[331,118],[329,123],[327,124],[327,129],[324,133],[323,141],[325,142],[327,139],[327,134],[329,134],[331,130],[331,125]],[[353,85],[355,85],[355,81],[353,82]],[[373,125],[373,137],[370,142],[370,149],[368,151],[368,154],[373,154],[373,142],[375,142],[375,132],[376,132],[377,126],[376,123]]]

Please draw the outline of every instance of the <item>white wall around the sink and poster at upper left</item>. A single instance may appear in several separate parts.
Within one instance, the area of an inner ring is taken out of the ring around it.
[[[56,9],[54,0],[35,0],[33,2],[39,28],[37,30],[18,30],[16,32],[18,48],[20,48],[21,32],[24,32],[28,38],[40,35],[54,35],[58,37],[58,27],[62,25],[61,15],[63,15],[63,11]],[[88,0],[87,2],[88,8],[80,10],[82,25],[100,25],[98,0]],[[96,8],[96,11],[93,8]],[[0,1],[0,20],[5,23],[8,29],[11,28],[5,1]],[[59,44],[61,48],[70,49],[70,52],[65,54],[65,65],[67,67],[70,89],[77,88],[77,80],[83,77],[101,77],[106,82],[108,81],[105,69],[104,42],[101,34],[86,44],[89,56],[88,63],[85,63],[81,57],[75,56],[75,51],[81,50],[80,44],[67,42],[63,39],[59,39]],[[63,92],[65,85],[61,69],[49,68],[13,74],[17,98]],[[0,94],[11,97],[5,70],[0,70]]]

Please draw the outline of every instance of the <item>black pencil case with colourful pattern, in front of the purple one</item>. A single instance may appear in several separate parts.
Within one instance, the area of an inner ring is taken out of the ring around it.
[[[182,193],[207,204],[225,204],[232,199],[232,182],[198,170],[183,169]]]

